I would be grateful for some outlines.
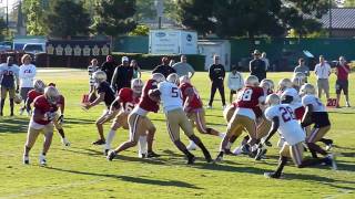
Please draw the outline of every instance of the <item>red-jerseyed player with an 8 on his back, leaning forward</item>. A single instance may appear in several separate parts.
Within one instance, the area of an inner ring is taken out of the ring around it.
[[[245,87],[239,93],[236,108],[227,124],[226,135],[221,143],[220,154],[216,157],[216,161],[223,159],[230,138],[232,136],[239,137],[243,129],[246,129],[248,133],[248,145],[252,146],[252,151],[256,151],[257,146],[254,146],[257,143],[256,117],[253,108],[263,103],[264,100],[264,91],[262,87],[258,87],[258,78],[254,75],[248,76],[245,81]]]

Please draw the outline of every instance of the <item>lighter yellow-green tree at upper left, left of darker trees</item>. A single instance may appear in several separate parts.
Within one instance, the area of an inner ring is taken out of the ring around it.
[[[30,35],[44,35],[44,8],[39,0],[23,0],[27,32]]]

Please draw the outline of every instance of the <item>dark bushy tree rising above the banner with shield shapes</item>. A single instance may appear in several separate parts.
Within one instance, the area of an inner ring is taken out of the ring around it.
[[[90,21],[90,15],[84,10],[82,1],[55,0],[50,3],[44,25],[49,35],[67,38],[88,35]]]

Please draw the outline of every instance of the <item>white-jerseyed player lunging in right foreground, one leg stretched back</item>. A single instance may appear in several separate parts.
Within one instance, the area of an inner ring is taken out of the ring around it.
[[[268,121],[272,121],[272,129],[268,132],[266,139],[262,140],[261,146],[263,146],[263,143],[267,142],[277,130],[280,132],[281,137],[285,139],[285,143],[280,151],[277,169],[274,172],[265,172],[265,177],[280,178],[290,157],[298,168],[325,163],[326,165],[332,165],[333,169],[336,169],[332,155],[322,159],[303,159],[303,142],[305,140],[305,134],[298,122],[295,119],[293,109],[286,104],[280,104],[280,97],[276,94],[268,95],[266,97],[266,104],[270,107],[265,111],[265,117]],[[262,149],[260,148],[257,155],[262,154],[261,150]]]

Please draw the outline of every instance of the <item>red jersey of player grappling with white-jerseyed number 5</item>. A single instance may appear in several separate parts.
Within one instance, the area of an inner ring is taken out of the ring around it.
[[[149,97],[149,91],[158,88],[158,83],[155,80],[149,80],[143,87],[143,96],[140,100],[139,107],[148,112],[158,113],[159,102],[154,102]]]

